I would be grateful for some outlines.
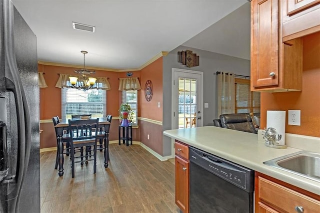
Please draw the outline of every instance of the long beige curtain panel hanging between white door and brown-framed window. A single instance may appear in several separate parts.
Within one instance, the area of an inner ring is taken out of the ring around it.
[[[234,113],[234,74],[221,72],[216,75],[218,116]]]

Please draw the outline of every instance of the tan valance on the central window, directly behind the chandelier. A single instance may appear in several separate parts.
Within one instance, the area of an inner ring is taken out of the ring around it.
[[[69,77],[73,76],[73,77],[78,77],[78,75],[70,75],[70,74],[62,74],[59,73],[59,79],[55,84],[55,87],[57,88],[68,88],[71,87],[71,84],[69,83]],[[110,90],[110,83],[108,81],[107,77],[95,77],[96,81],[94,84],[94,87],[97,87],[97,89],[102,89],[102,90]]]

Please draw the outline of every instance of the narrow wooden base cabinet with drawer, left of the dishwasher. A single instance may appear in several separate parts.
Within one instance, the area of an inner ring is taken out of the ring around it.
[[[175,204],[183,213],[189,212],[189,148],[178,141],[175,150]]]

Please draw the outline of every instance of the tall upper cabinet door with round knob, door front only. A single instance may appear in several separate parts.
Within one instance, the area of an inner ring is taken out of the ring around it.
[[[278,0],[251,1],[251,90],[278,85]]]

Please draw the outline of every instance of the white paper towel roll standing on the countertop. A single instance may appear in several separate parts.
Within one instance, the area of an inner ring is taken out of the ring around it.
[[[267,110],[266,111],[266,129],[272,127],[276,135],[281,135],[277,145],[285,144],[285,111]]]

